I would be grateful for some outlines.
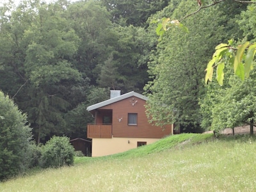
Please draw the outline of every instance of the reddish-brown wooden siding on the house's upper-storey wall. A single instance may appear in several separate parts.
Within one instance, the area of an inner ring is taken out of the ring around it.
[[[145,100],[133,96],[99,108],[99,110],[112,109],[113,137],[163,138],[172,134],[172,125],[162,128],[148,124],[145,104]],[[128,125],[128,113],[138,113],[137,125]],[[120,118],[122,118],[121,121],[119,121]]]

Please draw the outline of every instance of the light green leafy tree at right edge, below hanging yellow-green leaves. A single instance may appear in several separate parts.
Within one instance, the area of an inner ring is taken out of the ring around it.
[[[215,94],[212,95],[211,99],[204,100],[202,109],[204,113],[209,110],[208,113],[211,115],[211,119],[205,118],[205,122],[209,120],[211,130],[216,132],[225,128],[232,128],[234,131],[234,127],[247,124],[250,125],[250,133],[253,134],[256,112],[255,72],[243,82],[232,75],[227,79],[228,87],[226,86],[225,89],[220,88],[220,86],[212,88]],[[207,93],[207,97],[209,97],[209,91]],[[212,102],[212,100],[217,102]],[[206,110],[205,106],[207,107]]]

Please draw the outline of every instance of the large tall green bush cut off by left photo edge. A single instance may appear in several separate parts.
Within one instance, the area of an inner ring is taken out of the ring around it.
[[[0,92],[0,180],[29,168],[31,128],[13,100]]]

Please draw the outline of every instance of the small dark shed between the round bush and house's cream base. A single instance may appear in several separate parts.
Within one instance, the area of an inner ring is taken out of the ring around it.
[[[84,156],[92,156],[92,141],[84,140],[83,138],[76,138],[70,140],[75,150],[81,150]]]

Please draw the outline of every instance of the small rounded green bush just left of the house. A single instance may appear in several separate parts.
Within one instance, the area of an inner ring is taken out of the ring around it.
[[[74,164],[74,147],[66,136],[53,136],[42,146],[40,166],[42,168],[60,167]]]

